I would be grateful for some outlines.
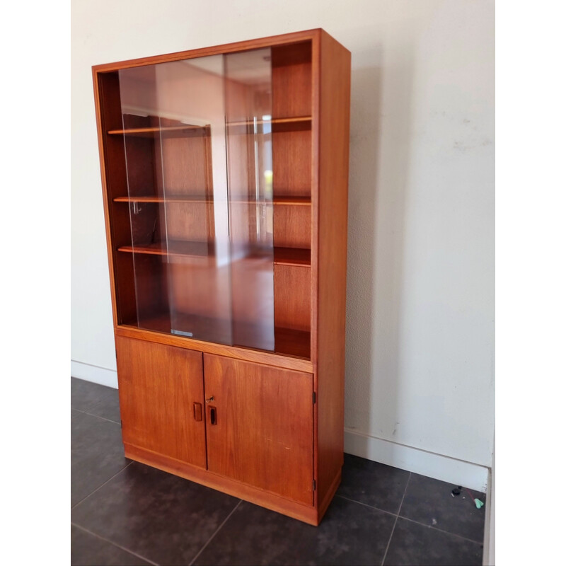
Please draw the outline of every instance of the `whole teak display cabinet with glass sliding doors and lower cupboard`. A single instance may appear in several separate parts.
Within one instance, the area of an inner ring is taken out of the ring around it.
[[[318,524],[343,461],[350,52],[93,67],[128,458]]]

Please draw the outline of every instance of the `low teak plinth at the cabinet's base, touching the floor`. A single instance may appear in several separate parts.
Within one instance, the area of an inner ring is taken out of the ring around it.
[[[340,485],[339,474],[337,476],[337,481],[333,483],[332,489],[325,496],[320,509],[317,509],[316,507],[308,507],[301,503],[284,499],[284,497],[279,497],[278,495],[260,490],[257,487],[246,485],[238,482],[237,480],[216,475],[204,468],[191,466],[185,462],[175,460],[175,458],[170,458],[168,456],[163,456],[163,454],[157,454],[151,450],[139,448],[139,446],[124,444],[124,450],[126,458],[129,458],[130,460],[135,460],[137,462],[147,464],[148,466],[158,468],[159,470],[163,470],[164,472],[178,475],[186,480],[191,480],[195,483],[212,487],[214,490],[219,490],[227,493],[228,495],[233,495],[233,497],[245,499],[250,503],[260,505],[266,509],[271,509],[277,513],[287,515],[293,519],[298,519],[299,521],[303,521],[304,523],[314,526],[318,526],[320,523],[320,520],[323,518],[323,514],[328,508],[338,485]]]

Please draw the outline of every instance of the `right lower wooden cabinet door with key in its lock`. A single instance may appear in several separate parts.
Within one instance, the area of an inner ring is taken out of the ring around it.
[[[204,354],[208,469],[313,504],[313,376]]]

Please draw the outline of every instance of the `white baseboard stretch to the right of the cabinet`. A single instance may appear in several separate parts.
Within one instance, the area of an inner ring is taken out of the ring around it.
[[[426,450],[371,437],[352,429],[344,431],[344,451],[367,460],[410,472],[428,475],[454,485],[485,493],[489,468],[471,462],[434,454]]]

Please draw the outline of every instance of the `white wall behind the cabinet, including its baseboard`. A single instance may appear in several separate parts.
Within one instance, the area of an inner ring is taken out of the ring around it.
[[[491,0],[75,0],[74,375],[115,384],[91,65],[324,28],[352,52],[348,451],[482,487],[494,427]],[[87,365],[88,364],[88,365]]]

